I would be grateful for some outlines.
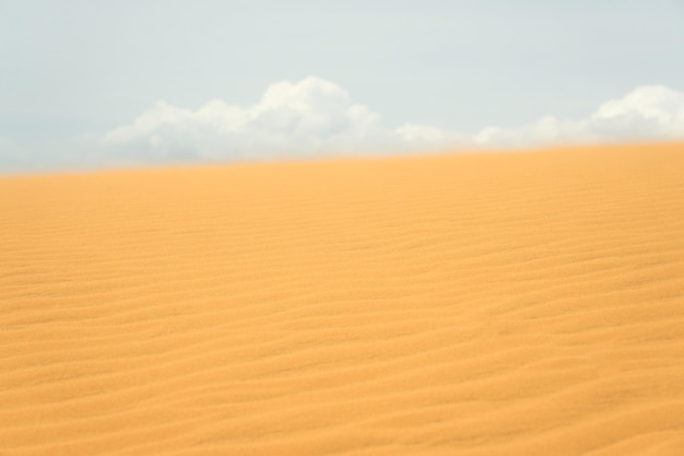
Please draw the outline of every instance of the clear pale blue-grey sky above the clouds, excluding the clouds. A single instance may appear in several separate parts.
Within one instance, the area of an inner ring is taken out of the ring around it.
[[[249,107],[307,77],[386,129],[582,119],[639,86],[683,91],[683,49],[682,0],[0,0],[0,172],[113,153],[96,139],[158,101]]]

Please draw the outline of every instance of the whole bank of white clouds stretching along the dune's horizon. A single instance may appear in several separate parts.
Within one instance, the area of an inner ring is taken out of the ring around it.
[[[190,109],[161,101],[129,125],[61,144],[68,149],[63,156],[46,152],[47,145],[0,138],[0,165],[98,167],[682,139],[684,92],[662,85],[636,87],[583,119],[546,116],[467,135],[420,124],[387,126],[335,83],[311,77],[272,84],[250,106],[214,100]]]

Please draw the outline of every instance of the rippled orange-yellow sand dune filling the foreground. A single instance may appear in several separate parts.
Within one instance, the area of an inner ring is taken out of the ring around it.
[[[683,455],[684,145],[0,179],[0,455]]]

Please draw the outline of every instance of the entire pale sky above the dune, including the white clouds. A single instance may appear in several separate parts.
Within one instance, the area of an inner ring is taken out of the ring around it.
[[[684,0],[0,0],[0,173],[684,139]]]

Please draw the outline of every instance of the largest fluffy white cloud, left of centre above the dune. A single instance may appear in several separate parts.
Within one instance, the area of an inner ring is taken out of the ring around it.
[[[108,149],[149,159],[259,159],[393,145],[380,116],[332,82],[279,82],[248,107],[214,100],[197,110],[158,102],[107,133]]]

